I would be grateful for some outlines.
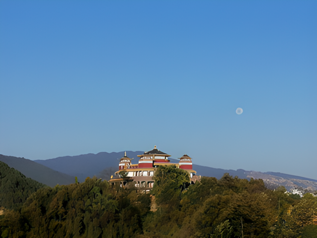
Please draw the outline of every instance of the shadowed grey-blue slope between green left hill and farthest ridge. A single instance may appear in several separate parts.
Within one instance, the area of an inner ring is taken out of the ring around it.
[[[34,179],[51,187],[55,186],[57,183],[65,185],[75,182],[74,177],[54,171],[53,169],[40,165],[32,160],[0,155],[0,161],[19,171],[27,178]]]

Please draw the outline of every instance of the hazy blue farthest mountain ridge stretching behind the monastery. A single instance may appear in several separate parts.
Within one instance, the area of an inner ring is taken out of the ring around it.
[[[139,158],[137,155],[143,154],[143,151],[127,151],[127,156],[134,158],[133,164],[137,164]],[[93,177],[100,174],[106,168],[118,168],[118,160],[124,156],[124,152],[100,152],[98,154],[86,154],[78,156],[64,156],[49,160],[35,160],[35,162],[49,167],[55,171],[72,177],[77,176],[79,181],[84,181],[87,177]],[[178,163],[176,159],[170,159],[173,163]],[[274,189],[280,185],[285,186],[288,190],[299,188],[307,191],[317,190],[317,180],[308,179],[299,176],[287,175],[274,172],[255,172],[245,170],[223,170],[207,166],[193,164],[193,169],[198,175],[215,177],[220,179],[224,173],[240,179],[263,179],[267,187]],[[36,180],[36,179],[35,179]]]

